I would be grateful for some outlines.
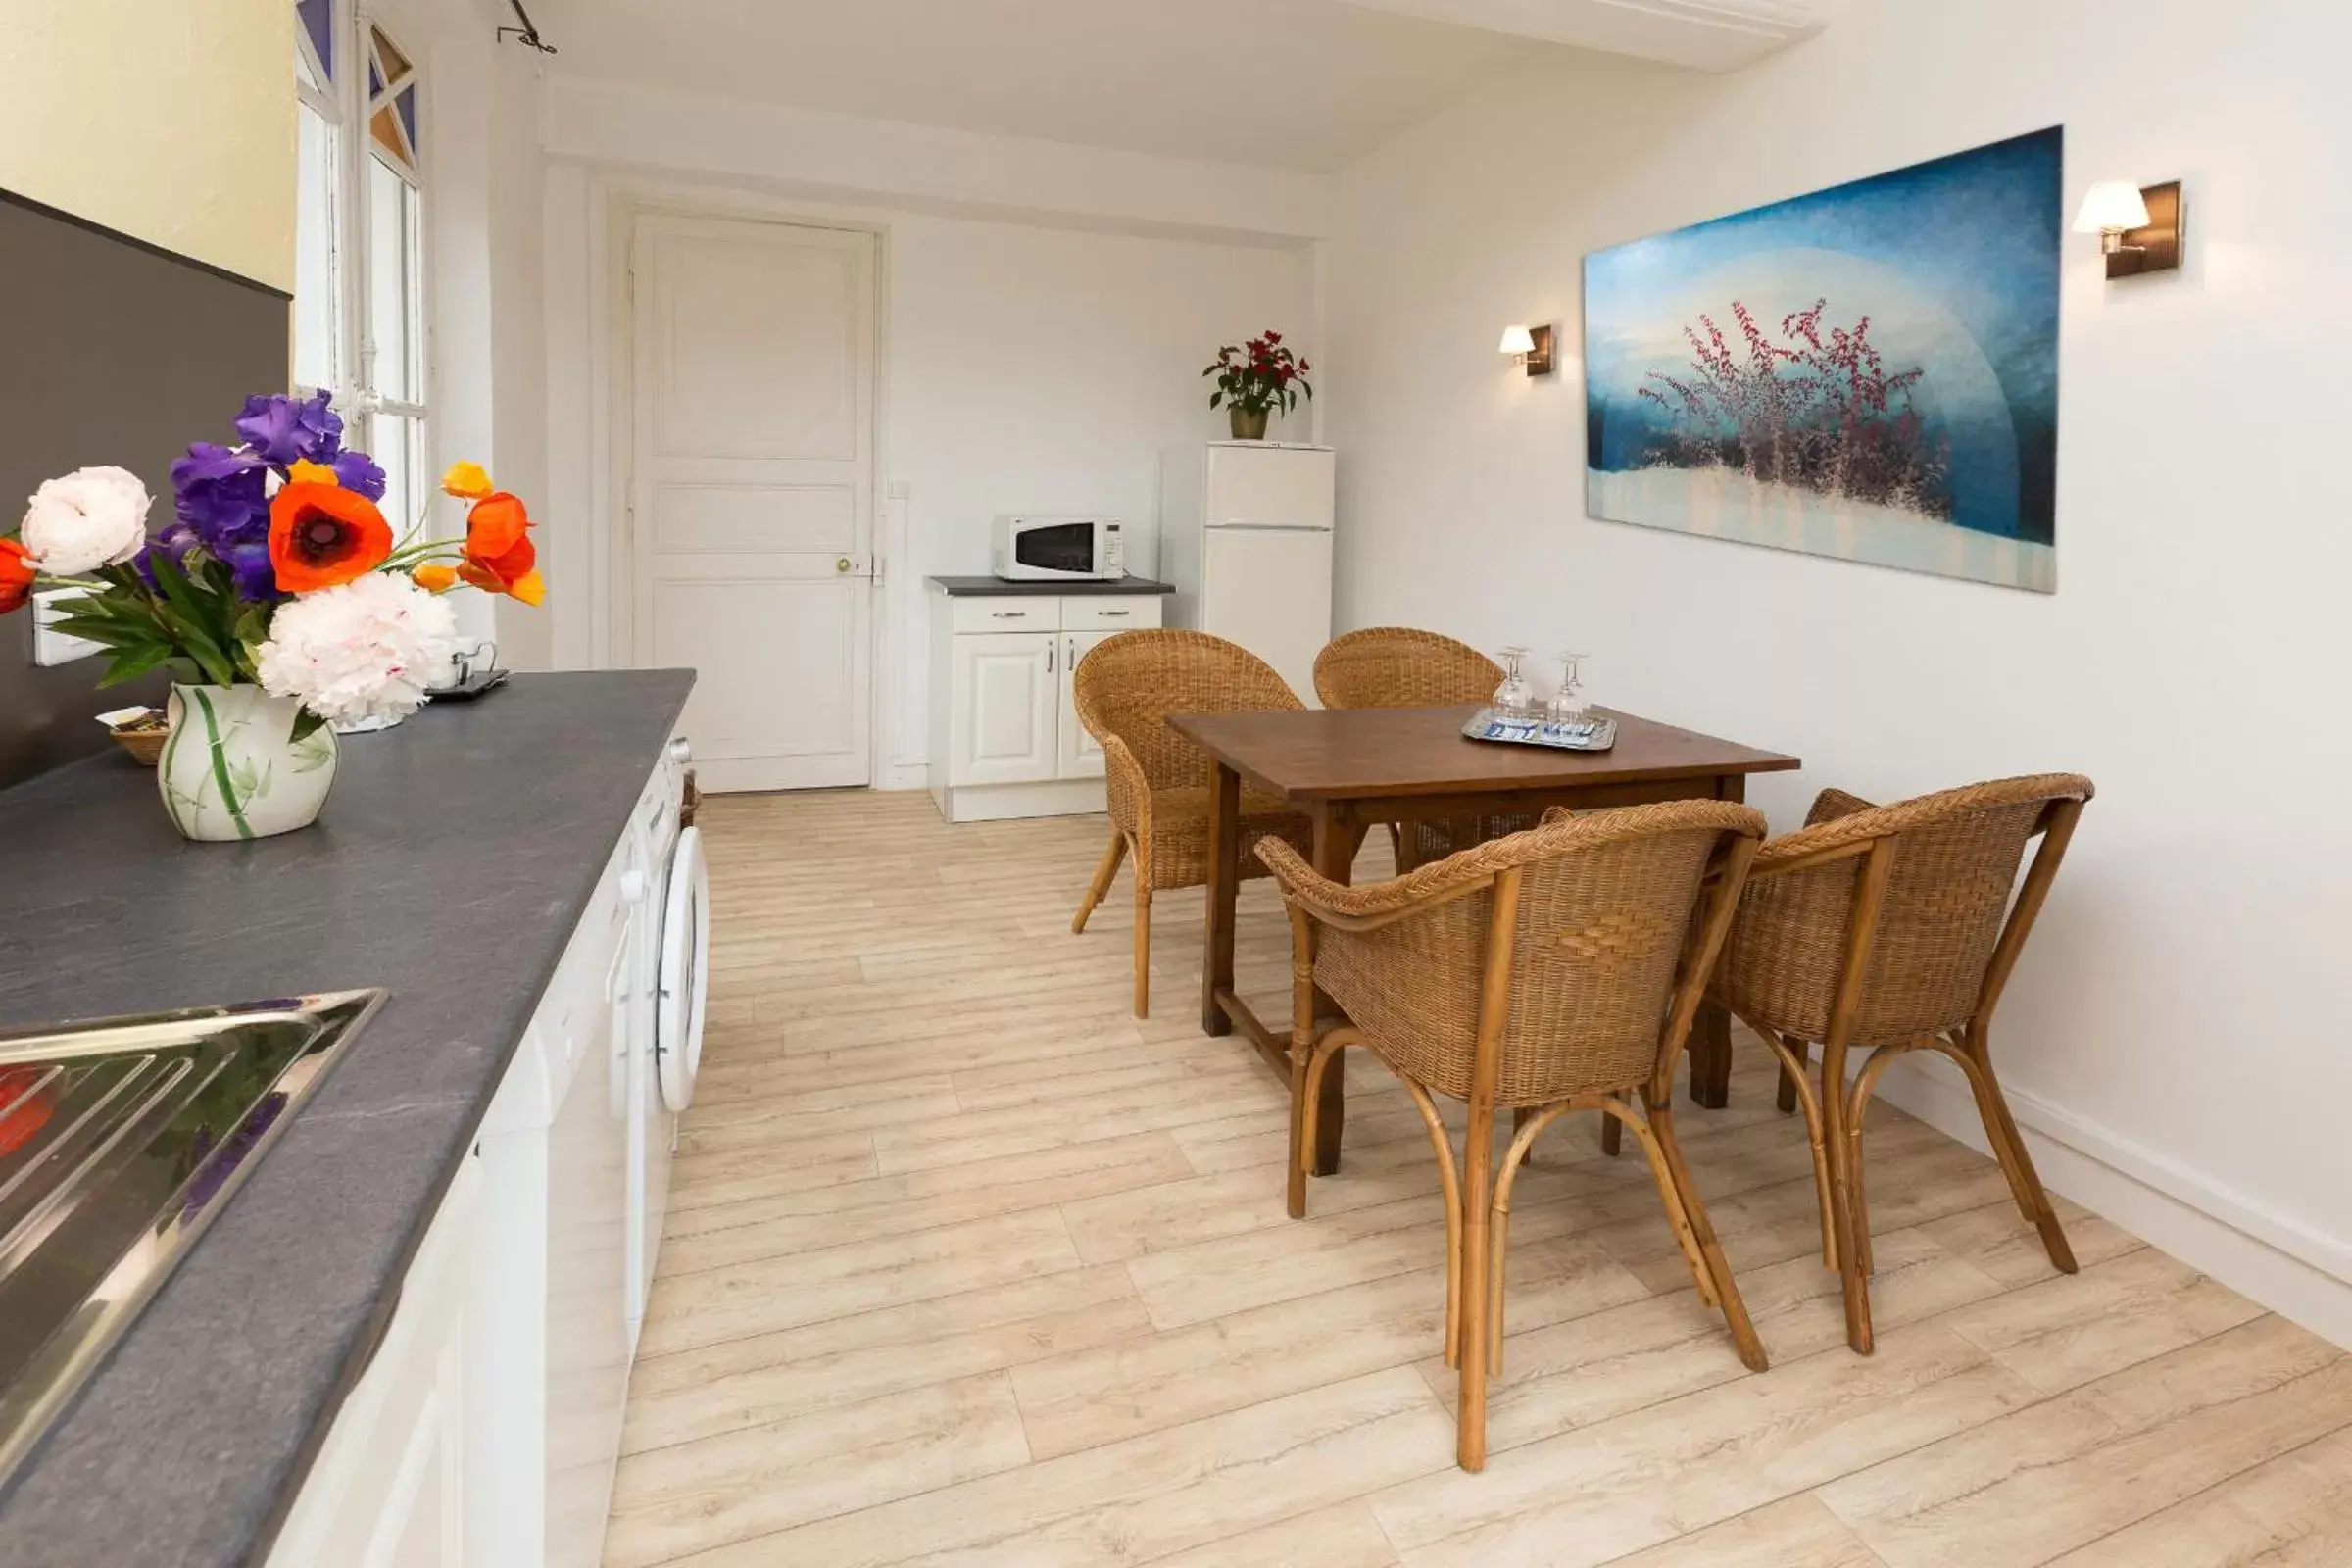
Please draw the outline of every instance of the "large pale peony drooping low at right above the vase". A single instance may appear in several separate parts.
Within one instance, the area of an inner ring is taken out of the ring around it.
[[[369,571],[289,599],[256,649],[261,686],[329,724],[405,719],[456,649],[456,611],[402,571]]]

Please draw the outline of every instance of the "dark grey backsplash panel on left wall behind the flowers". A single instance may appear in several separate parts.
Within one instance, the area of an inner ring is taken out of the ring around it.
[[[0,190],[0,531],[42,480],[120,463],[172,515],[172,458],[230,442],[247,393],[287,383],[287,296]],[[89,722],[162,701],[96,691],[96,658],[33,665],[33,611],[0,618],[0,788],[111,745]]]

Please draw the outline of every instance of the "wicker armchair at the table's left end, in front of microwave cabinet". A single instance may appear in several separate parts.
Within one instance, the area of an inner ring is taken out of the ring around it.
[[[1209,882],[1211,764],[1167,726],[1171,712],[1263,712],[1305,708],[1275,670],[1207,632],[1141,630],[1105,637],[1070,677],[1077,719],[1103,748],[1110,785],[1110,846],[1094,870],[1070,931],[1084,931],[1120,860],[1136,858],[1136,1018],[1152,999],[1152,893]],[[1242,790],[1242,875],[1263,877],[1249,856],[1261,835],[1308,846],[1308,818],[1284,802]]]

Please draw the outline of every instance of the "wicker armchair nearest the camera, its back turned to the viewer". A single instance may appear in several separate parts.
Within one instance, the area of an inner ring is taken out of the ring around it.
[[[1731,802],[1557,813],[1369,886],[1338,886],[1287,844],[1258,844],[1291,914],[1294,1018],[1315,1018],[1317,987],[1345,1011],[1294,1025],[1289,1211],[1305,1213],[1324,1070],[1364,1046],[1404,1081],[1437,1150],[1463,1469],[1486,1462],[1512,1180],[1536,1135],[1571,1110],[1632,1128],[1698,1298],[1722,1309],[1740,1361],[1764,1371],[1672,1121],[1675,1058],[1762,837],[1764,818]],[[1432,1093],[1470,1107],[1458,1164]],[[1505,1107],[1529,1114],[1494,1175]]]

